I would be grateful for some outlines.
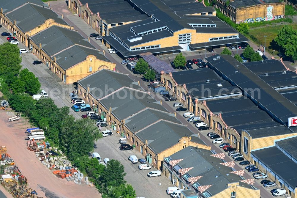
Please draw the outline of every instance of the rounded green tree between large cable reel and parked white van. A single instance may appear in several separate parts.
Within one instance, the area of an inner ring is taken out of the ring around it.
[[[28,94],[13,94],[9,97],[9,103],[13,110],[23,114],[29,114],[35,108],[33,98]]]

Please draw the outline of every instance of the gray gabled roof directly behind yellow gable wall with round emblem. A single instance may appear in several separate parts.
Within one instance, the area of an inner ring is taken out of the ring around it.
[[[64,69],[67,70],[73,65],[76,65],[80,62],[86,60],[86,57],[89,55],[94,55],[97,59],[111,62],[103,52],[100,52],[97,49],[86,48],[80,45],[74,45],[67,50],[62,51],[59,54],[56,54],[56,62]],[[65,59],[66,58],[66,59]],[[53,59],[53,57],[52,57]],[[97,70],[97,68],[96,68]]]

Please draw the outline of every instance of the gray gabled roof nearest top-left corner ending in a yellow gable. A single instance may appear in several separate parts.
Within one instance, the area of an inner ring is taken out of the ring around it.
[[[11,21],[16,21],[17,26],[23,32],[28,32],[40,26],[47,19],[53,19],[56,23],[68,25],[61,17],[48,7],[26,4],[6,15]]]

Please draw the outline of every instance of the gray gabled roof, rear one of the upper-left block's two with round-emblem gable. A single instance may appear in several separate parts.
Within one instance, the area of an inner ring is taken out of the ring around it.
[[[30,37],[30,39],[37,45],[41,43],[42,50],[45,51],[49,56],[53,56],[75,44],[96,49],[77,31],[59,26],[51,26]]]

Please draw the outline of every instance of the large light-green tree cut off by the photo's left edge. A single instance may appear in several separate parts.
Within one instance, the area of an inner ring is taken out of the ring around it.
[[[0,45],[0,75],[4,76],[7,83],[11,83],[12,76],[17,76],[22,58],[17,45],[3,43]]]

